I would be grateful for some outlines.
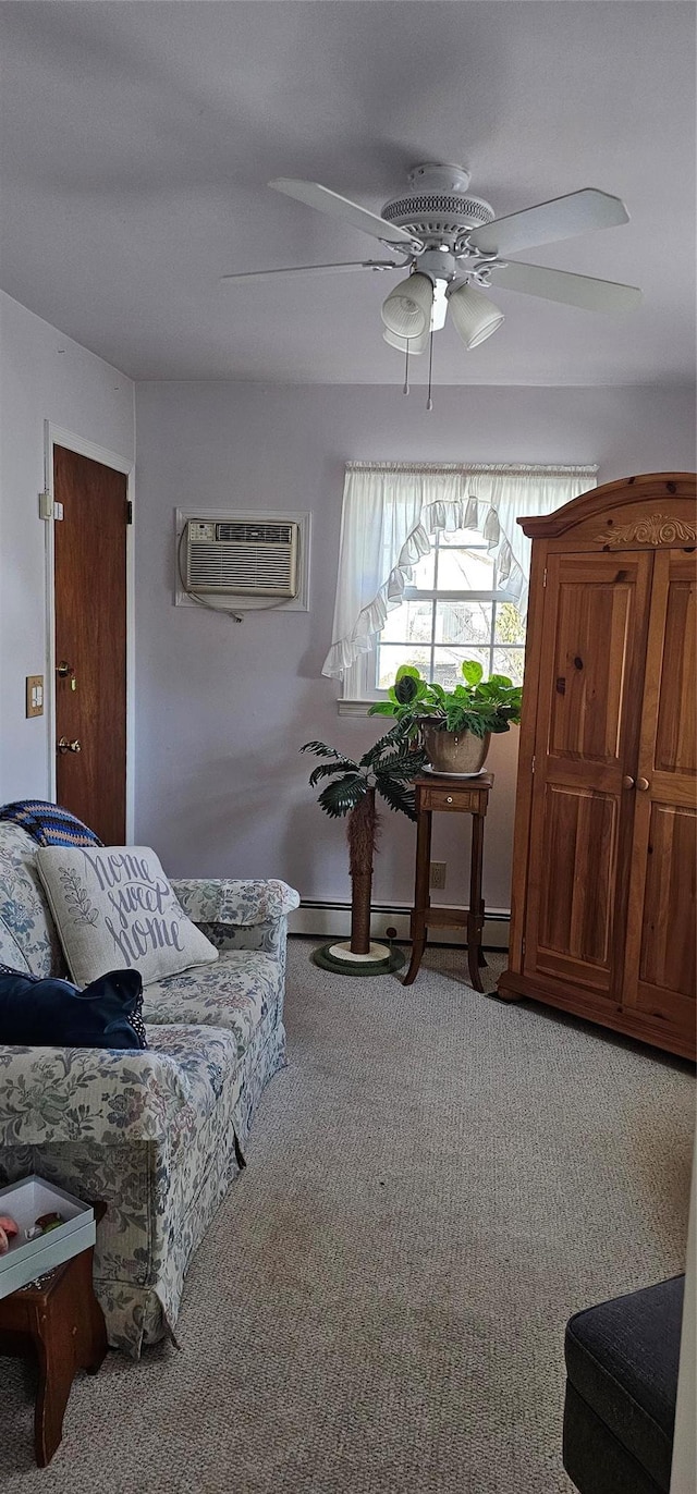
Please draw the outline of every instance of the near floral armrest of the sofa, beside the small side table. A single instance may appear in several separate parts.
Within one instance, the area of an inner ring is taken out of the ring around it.
[[[0,1047],[0,1146],[165,1140],[190,1122],[185,1074],[166,1053]]]

